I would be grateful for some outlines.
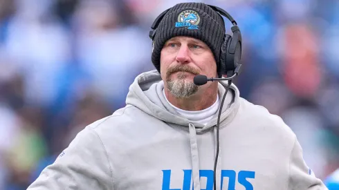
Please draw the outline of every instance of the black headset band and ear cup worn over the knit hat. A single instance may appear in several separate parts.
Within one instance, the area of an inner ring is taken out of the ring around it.
[[[241,32],[239,27],[237,26],[237,22],[235,19],[232,18],[226,10],[223,10],[222,8],[219,8],[217,6],[211,6],[207,5],[212,10],[219,13],[219,15],[222,15],[226,17],[231,23],[232,23],[232,36],[225,33],[223,37],[223,43],[221,45],[220,50],[220,60],[219,60],[219,66],[218,66],[218,75],[219,78],[221,78],[222,75],[235,76],[238,75],[241,64],[239,64],[241,59]],[[151,30],[149,31],[149,38],[154,40],[154,37],[156,35],[156,28],[158,27],[159,23],[161,23],[161,20],[163,17],[165,17],[166,13],[171,8],[168,8],[164,12],[162,12],[156,19],[154,20],[154,23],[151,26]]]

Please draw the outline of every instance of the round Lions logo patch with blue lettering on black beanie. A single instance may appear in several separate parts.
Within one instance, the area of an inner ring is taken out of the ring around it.
[[[178,15],[176,28],[186,27],[188,30],[198,30],[200,17],[194,10],[184,10]]]

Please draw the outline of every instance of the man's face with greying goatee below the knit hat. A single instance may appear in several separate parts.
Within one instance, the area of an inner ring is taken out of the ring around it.
[[[187,98],[198,91],[196,75],[217,77],[217,65],[210,48],[199,39],[173,37],[161,50],[161,78],[165,87],[178,98]],[[208,84],[200,88],[208,88]]]

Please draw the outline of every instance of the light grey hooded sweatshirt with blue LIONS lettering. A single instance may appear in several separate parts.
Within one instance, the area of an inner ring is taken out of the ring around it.
[[[206,125],[187,120],[162,91],[156,70],[136,77],[127,106],[86,126],[28,189],[212,190],[217,114]],[[233,84],[219,135],[217,189],[327,189],[293,131]]]

